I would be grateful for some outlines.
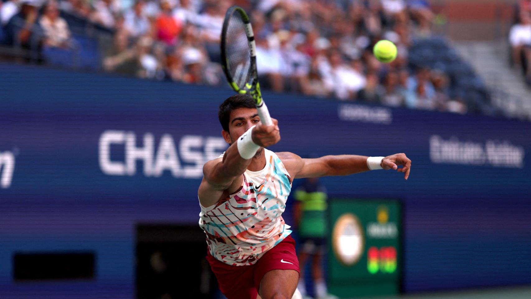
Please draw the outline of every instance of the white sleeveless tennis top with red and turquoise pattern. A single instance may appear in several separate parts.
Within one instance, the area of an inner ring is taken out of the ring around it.
[[[210,254],[232,266],[254,264],[292,232],[282,219],[292,179],[278,156],[264,151],[265,167],[245,170],[241,189],[210,207],[200,204]]]

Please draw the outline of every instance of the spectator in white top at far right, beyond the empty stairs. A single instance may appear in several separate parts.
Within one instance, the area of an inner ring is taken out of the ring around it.
[[[512,47],[512,62],[522,67],[526,81],[531,86],[531,16],[529,12],[520,12],[519,23],[513,25],[509,32],[509,42]]]

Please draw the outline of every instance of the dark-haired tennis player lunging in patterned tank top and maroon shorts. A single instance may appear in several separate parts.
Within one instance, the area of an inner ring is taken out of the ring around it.
[[[203,167],[199,225],[207,235],[207,260],[228,299],[289,299],[299,265],[282,212],[294,178],[395,169],[409,176],[404,153],[302,159],[265,147],[280,140],[278,121],[262,125],[254,101],[235,95],[219,106],[221,134],[230,147]],[[404,167],[398,168],[397,165]]]

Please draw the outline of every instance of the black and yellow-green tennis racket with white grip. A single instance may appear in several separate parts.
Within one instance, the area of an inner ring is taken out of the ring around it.
[[[249,16],[239,6],[230,7],[225,14],[221,30],[221,66],[230,87],[251,96],[262,124],[271,125],[258,83],[253,28]]]

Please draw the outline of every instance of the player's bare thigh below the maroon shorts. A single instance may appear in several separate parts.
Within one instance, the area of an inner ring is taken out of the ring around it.
[[[262,277],[258,293],[262,299],[291,299],[297,288],[298,277],[296,270],[271,270]]]

